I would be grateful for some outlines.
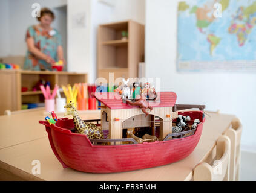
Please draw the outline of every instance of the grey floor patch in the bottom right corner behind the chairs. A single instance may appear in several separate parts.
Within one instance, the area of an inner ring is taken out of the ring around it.
[[[240,180],[256,180],[256,153],[241,151]]]

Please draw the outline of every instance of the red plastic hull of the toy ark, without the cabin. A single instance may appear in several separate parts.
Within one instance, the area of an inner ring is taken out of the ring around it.
[[[45,125],[51,148],[64,168],[111,173],[166,165],[189,156],[199,142],[205,119],[203,112],[182,112],[182,115],[191,116],[191,120],[200,119],[194,135],[131,145],[92,145],[85,134],[71,133],[72,119],[58,121],[56,125],[39,122]]]

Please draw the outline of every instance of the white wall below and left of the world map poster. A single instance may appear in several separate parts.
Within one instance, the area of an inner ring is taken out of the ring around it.
[[[146,0],[146,77],[160,77],[162,90],[177,93],[177,104],[205,104],[206,110],[220,109],[221,113],[238,116],[243,123],[241,147],[255,151],[256,75],[178,73],[178,2]]]

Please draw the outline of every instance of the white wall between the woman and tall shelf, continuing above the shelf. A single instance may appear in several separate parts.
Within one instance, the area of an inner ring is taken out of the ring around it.
[[[109,6],[97,0],[68,0],[68,71],[87,72],[96,80],[97,27],[108,22],[133,19],[145,24],[145,0],[117,0]],[[86,14],[86,28],[72,28],[72,17]]]

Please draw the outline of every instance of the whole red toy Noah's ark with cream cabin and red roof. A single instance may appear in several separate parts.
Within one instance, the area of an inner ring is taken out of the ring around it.
[[[45,125],[51,148],[63,168],[91,173],[132,171],[177,162],[192,153],[203,130],[205,106],[179,105],[176,93],[159,92],[159,101],[148,101],[153,109],[145,116],[139,106],[123,103],[115,95],[116,92],[93,93],[102,104],[101,119],[90,122],[108,131],[108,138],[89,139],[75,133],[73,119],[62,118],[55,125],[39,121]],[[191,108],[199,111],[180,111]],[[190,117],[188,127],[172,133],[180,115]],[[199,120],[197,127],[189,127],[194,120]],[[139,139],[148,134],[156,140],[138,142],[129,138],[127,131]]]

